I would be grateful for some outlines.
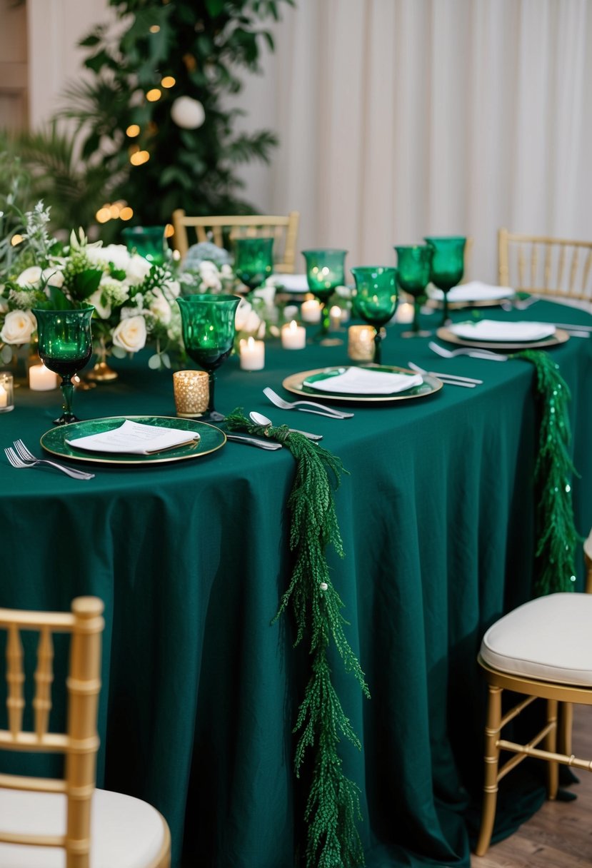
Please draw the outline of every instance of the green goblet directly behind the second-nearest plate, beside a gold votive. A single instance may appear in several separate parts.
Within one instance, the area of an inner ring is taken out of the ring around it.
[[[353,311],[376,329],[374,361],[382,360],[383,325],[392,319],[397,307],[397,269],[386,266],[352,268],[356,281]]]

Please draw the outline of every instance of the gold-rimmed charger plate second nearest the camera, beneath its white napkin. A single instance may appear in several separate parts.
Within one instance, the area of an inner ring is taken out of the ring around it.
[[[360,366],[387,373],[409,374],[410,376],[416,376],[417,374],[417,372],[410,371],[408,368],[396,368],[391,365]],[[399,391],[395,395],[352,395],[349,392],[345,394],[344,392],[339,391],[320,391],[319,389],[312,389],[310,386],[304,385],[305,380],[311,378],[320,379],[337,377],[338,374],[345,373],[348,367],[355,367],[355,365],[316,368],[314,371],[303,371],[298,374],[290,374],[290,376],[286,377],[283,381],[282,385],[287,391],[293,392],[294,395],[299,395],[301,398],[314,398],[319,401],[320,404],[323,404],[326,401],[339,401],[340,404],[358,404],[359,402],[364,404],[391,404],[393,401],[411,401],[414,398],[427,398],[428,395],[433,395],[435,392],[440,391],[444,385],[442,380],[439,380],[437,377],[432,377],[431,374],[422,374],[424,379],[422,385],[414,386],[412,389],[408,389],[407,391]]]

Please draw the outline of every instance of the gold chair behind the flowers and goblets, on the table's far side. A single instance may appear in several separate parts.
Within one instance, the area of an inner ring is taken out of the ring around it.
[[[181,253],[182,259],[187,255],[189,249],[187,228],[194,230],[198,242],[213,241],[218,247],[228,248],[232,247],[232,242],[236,238],[267,238],[272,236],[274,271],[280,274],[292,274],[296,261],[299,219],[298,211],[291,211],[287,217],[264,216],[262,214],[234,217],[188,217],[182,208],[179,208],[173,213],[173,241],[174,246]]]

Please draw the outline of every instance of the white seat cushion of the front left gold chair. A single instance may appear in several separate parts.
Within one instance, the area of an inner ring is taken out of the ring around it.
[[[165,827],[147,802],[121,792],[95,790],[91,819],[91,868],[146,868],[161,852]],[[0,789],[3,832],[62,835],[66,797],[47,792]],[[0,844],[0,868],[64,868],[65,852],[56,847]]]

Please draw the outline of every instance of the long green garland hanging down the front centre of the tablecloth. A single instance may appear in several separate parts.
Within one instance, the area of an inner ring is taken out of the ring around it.
[[[331,681],[327,648],[331,639],[345,670],[352,672],[366,697],[370,697],[358,659],[345,638],[347,621],[340,613],[343,602],[333,588],[326,560],[332,543],[340,557],[343,545],[335,513],[333,487],[346,472],[339,458],[304,435],[291,433],[287,425],[252,424],[240,409],[226,418],[230,431],[248,431],[279,441],[296,461],[296,474],[288,498],[291,513],[290,549],[294,554],[290,584],[282,595],[272,623],[292,602],[297,635],[294,646],[310,635],[311,674],[293,732],[299,732],[294,756],[300,776],[307,747],[314,751],[312,783],[306,800],[306,868],[356,868],[364,865],[364,852],[356,818],[361,819],[358,786],[345,777],[337,746],[339,733],[361,748],[358,736],[345,716]]]

